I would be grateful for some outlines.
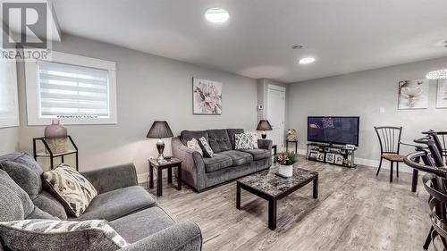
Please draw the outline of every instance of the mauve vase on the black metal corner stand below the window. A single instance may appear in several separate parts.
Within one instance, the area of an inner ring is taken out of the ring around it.
[[[46,126],[44,136],[53,154],[60,154],[67,150],[67,135],[67,129],[60,121],[51,121],[51,125]]]

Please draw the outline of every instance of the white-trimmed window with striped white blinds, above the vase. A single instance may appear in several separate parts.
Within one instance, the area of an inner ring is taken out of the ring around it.
[[[25,67],[30,125],[116,123],[115,63],[53,52]]]

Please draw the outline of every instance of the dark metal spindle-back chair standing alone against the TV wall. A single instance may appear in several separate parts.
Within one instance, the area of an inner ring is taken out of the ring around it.
[[[379,175],[383,160],[391,163],[390,182],[392,182],[392,168],[396,163],[396,174],[399,178],[399,163],[403,162],[403,155],[400,155],[402,127],[382,126],[374,127],[375,133],[380,143],[380,163],[375,176]]]

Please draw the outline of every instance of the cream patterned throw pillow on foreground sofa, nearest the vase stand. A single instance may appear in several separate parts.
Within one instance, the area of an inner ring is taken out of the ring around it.
[[[46,187],[61,202],[65,211],[79,217],[84,213],[94,197],[97,189],[79,172],[69,165],[61,163],[55,170],[42,174]]]

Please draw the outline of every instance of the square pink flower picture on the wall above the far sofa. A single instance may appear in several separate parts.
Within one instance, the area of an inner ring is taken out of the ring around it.
[[[222,114],[222,83],[208,79],[192,79],[192,113]]]

